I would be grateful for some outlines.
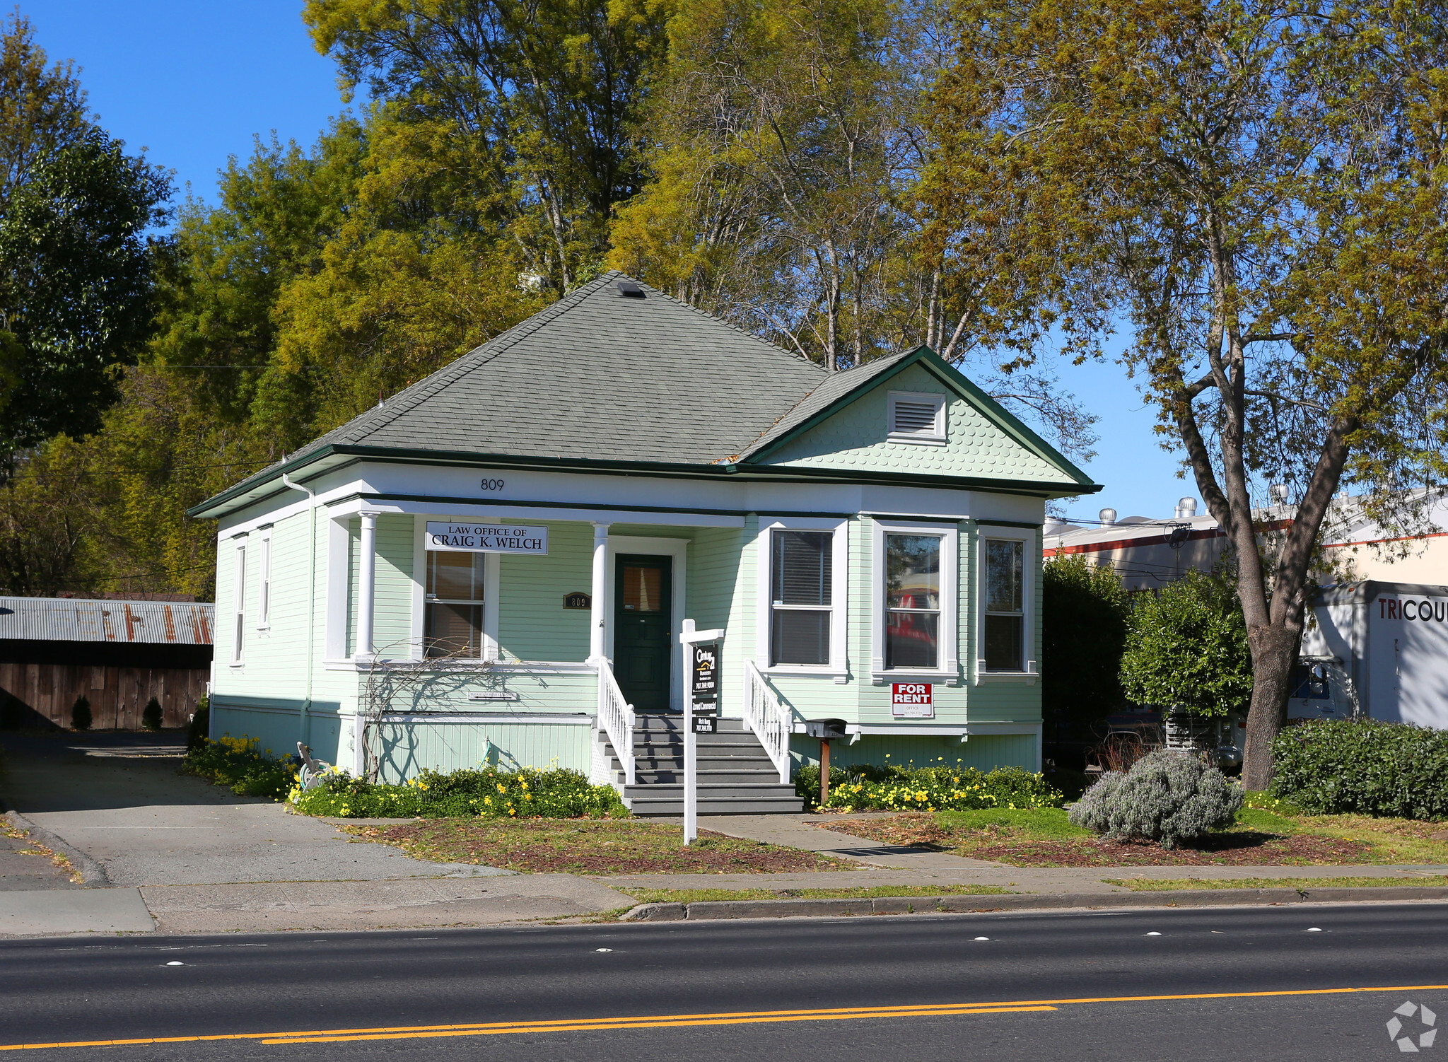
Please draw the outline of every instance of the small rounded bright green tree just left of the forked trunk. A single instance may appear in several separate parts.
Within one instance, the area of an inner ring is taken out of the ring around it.
[[[1127,624],[1121,685],[1131,700],[1197,716],[1251,704],[1253,655],[1231,582],[1202,572],[1140,594]]]

